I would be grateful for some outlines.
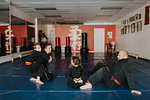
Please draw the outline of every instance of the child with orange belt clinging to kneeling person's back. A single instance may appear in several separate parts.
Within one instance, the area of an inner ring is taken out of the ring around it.
[[[35,43],[33,45],[34,50],[32,51],[31,55],[27,58],[27,61],[25,62],[27,65],[27,69],[31,72],[31,81],[36,81],[37,79],[37,68],[35,65],[37,59],[40,56],[41,53],[41,46],[40,43]]]

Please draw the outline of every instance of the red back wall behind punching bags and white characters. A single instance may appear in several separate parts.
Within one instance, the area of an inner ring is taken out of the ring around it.
[[[66,45],[66,37],[71,32],[71,26],[75,25],[55,25],[55,37],[61,38],[61,45]],[[82,30],[82,33],[87,33],[87,45],[89,51],[94,51],[94,28],[104,28],[105,29],[105,45],[106,42],[115,41],[116,42],[116,25],[77,25],[78,29]],[[107,38],[107,32],[112,32],[112,39]],[[82,38],[82,36],[79,36]],[[82,41],[82,39],[80,40]],[[78,50],[77,50],[78,51]]]

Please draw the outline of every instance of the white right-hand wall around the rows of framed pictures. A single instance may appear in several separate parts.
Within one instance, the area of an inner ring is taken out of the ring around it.
[[[116,21],[116,41],[117,51],[128,50],[131,53],[138,54],[142,58],[150,59],[150,25],[144,25],[145,6],[137,9],[132,13],[129,13],[128,15]],[[129,17],[132,17],[137,13],[142,14],[142,31],[121,34],[121,21],[128,19]]]

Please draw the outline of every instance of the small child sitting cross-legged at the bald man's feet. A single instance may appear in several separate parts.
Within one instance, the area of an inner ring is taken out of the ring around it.
[[[79,88],[86,83],[88,79],[88,70],[82,68],[79,57],[72,57],[71,65],[66,72],[66,78],[68,86],[72,88]]]

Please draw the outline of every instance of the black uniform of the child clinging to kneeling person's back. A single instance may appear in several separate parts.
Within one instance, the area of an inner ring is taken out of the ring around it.
[[[37,78],[38,69],[35,63],[37,62],[40,55],[41,55],[41,52],[33,50],[31,55],[27,58],[27,61],[26,61],[27,69],[30,70],[31,76],[34,78]]]

